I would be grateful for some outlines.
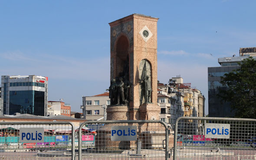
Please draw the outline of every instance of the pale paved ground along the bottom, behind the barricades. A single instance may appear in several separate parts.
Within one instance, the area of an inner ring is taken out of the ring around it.
[[[170,151],[171,153],[171,151]],[[76,160],[78,152],[75,152]],[[173,151],[172,151],[173,155]],[[71,160],[69,150],[5,150],[0,151],[0,159],[4,160]],[[124,160],[164,160],[164,150],[145,150],[140,153],[136,150],[83,150],[82,159],[84,160],[101,160],[101,159],[124,159]],[[170,160],[173,159],[169,158]],[[256,148],[226,148],[216,147],[181,147],[177,150],[177,160],[256,160]]]

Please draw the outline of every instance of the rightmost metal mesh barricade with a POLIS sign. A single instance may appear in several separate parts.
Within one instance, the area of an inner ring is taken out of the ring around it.
[[[180,117],[174,160],[256,160],[256,119]]]

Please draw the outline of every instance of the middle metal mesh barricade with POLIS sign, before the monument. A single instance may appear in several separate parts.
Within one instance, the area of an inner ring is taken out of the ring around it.
[[[79,128],[79,160],[167,160],[167,144],[168,128],[162,121],[89,121]]]

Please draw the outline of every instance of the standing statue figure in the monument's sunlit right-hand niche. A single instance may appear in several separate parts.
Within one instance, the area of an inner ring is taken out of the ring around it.
[[[148,76],[146,76],[144,79],[141,80],[141,100],[145,99],[145,103],[151,103],[151,81]]]

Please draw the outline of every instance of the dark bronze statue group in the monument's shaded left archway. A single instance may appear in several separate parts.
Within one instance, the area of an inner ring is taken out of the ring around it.
[[[125,77],[116,77],[109,86],[110,105],[127,105],[130,82]]]

